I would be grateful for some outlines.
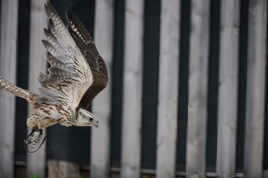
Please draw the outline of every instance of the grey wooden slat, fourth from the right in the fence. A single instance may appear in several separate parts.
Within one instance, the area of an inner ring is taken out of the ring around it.
[[[179,92],[180,1],[162,0],[157,121],[157,177],[175,177]]]

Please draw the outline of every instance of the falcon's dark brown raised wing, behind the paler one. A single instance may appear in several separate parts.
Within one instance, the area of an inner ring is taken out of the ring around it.
[[[80,102],[80,107],[86,109],[95,96],[107,86],[109,81],[108,71],[103,58],[100,56],[84,25],[69,10],[66,10],[66,18],[70,24],[70,26],[67,26],[69,33],[86,58],[93,75],[93,83]]]

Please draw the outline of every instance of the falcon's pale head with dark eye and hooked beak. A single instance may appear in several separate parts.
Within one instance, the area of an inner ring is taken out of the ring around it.
[[[99,121],[88,110],[80,108],[77,112],[77,124],[76,126],[95,126],[99,127]]]

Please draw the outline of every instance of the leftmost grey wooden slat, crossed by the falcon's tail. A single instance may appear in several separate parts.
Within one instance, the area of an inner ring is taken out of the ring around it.
[[[2,0],[0,75],[16,81],[18,1]],[[0,175],[14,176],[15,96],[0,90]]]

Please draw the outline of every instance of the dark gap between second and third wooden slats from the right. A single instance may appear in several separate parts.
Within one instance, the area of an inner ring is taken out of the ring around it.
[[[210,4],[206,171],[215,172],[217,153],[217,106],[220,57],[220,1]]]

